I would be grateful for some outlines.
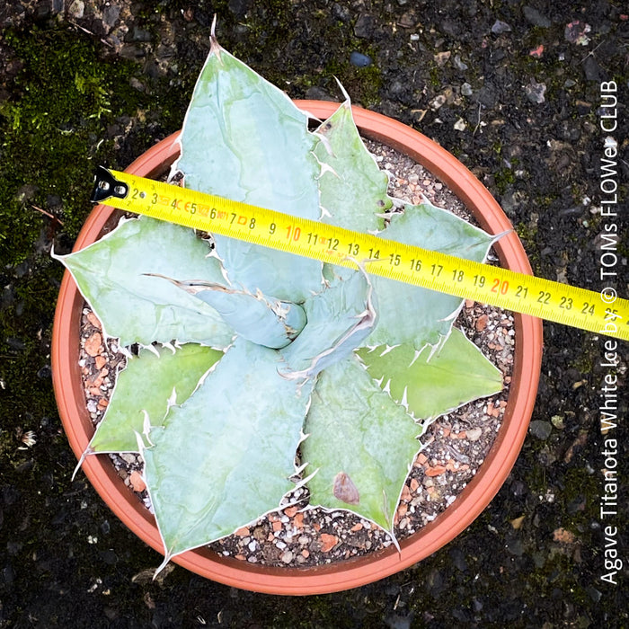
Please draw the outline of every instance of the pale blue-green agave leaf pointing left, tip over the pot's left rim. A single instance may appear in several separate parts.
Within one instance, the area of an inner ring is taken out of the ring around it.
[[[221,281],[220,262],[191,229],[141,217],[126,220],[80,252],[57,256],[103,330],[121,345],[199,342],[225,348],[234,332],[214,308],[147,274]]]

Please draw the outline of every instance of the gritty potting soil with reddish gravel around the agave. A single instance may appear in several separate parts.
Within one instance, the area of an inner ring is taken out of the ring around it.
[[[419,164],[388,146],[370,141],[367,144],[377,155],[380,167],[393,175],[391,196],[418,203],[423,194],[435,205],[474,222],[447,187]],[[496,261],[492,253],[490,261]],[[399,540],[420,530],[456,501],[483,464],[501,426],[513,364],[513,318],[499,308],[465,302],[456,326],[501,369],[504,389],[501,394],[449,412],[430,425],[421,439],[425,447],[415,460],[397,509],[395,535]],[[115,339],[103,341],[101,324],[87,306],[81,339],[80,366],[87,408],[95,425],[102,419],[115,375],[124,366],[125,357]],[[140,457],[122,454],[111,455],[111,459],[129,491],[135,491],[138,500],[150,508],[141,480]],[[291,494],[290,501],[298,503],[239,529],[210,548],[248,563],[306,567],[391,545],[389,536],[364,518],[344,510],[307,508],[305,488]]]

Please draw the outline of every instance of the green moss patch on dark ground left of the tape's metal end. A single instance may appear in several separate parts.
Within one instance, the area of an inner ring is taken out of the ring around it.
[[[128,82],[130,62],[104,61],[86,38],[33,28],[9,31],[5,42],[23,64],[0,107],[0,233],[8,235],[0,241],[0,258],[17,264],[43,225],[32,206],[55,213],[66,233],[76,235],[91,208],[94,166],[111,159],[114,149],[113,140],[104,139],[112,111],[135,115],[140,93]]]

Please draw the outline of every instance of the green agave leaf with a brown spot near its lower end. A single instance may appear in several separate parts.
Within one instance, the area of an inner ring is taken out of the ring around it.
[[[418,426],[355,356],[317,381],[302,444],[310,503],[350,509],[392,533],[403,483],[421,449]]]

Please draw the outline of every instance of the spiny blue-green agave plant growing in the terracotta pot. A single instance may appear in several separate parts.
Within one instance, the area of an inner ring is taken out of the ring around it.
[[[446,210],[393,208],[349,100],[308,123],[213,37],[173,173],[190,189],[485,259],[493,237]],[[394,539],[428,422],[501,389],[452,326],[460,298],[370,277],[360,260],[323,265],[147,217],[58,259],[103,331],[139,348],[84,456],[139,452],[163,565],[279,509],[296,483],[310,506],[349,509]]]

